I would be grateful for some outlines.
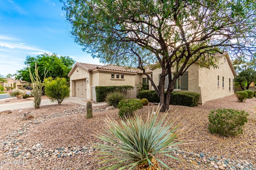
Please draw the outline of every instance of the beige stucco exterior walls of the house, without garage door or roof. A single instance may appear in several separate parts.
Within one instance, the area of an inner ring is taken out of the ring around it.
[[[81,63],[80,63],[81,64]],[[196,92],[200,94],[200,104],[216,100],[234,94],[234,68],[227,55],[220,58],[218,68],[200,68],[197,63],[192,64],[186,71],[188,72],[188,90],[189,92]],[[82,66],[82,65],[81,65]],[[91,66],[87,64],[86,66]],[[158,86],[159,74],[161,68],[154,68],[152,72],[147,72]],[[114,75],[114,77],[113,77]],[[119,78],[116,77],[119,75]],[[121,78],[122,75],[122,78]],[[111,70],[108,68],[94,68],[86,70],[75,65],[70,76],[70,96],[75,96],[75,82],[86,80],[86,98],[92,100],[92,89],[95,86],[123,86],[130,85],[136,87],[142,82],[142,78],[146,75],[142,72],[126,72],[120,70]],[[219,76],[219,86],[218,86]],[[224,87],[222,88],[222,77],[224,77]],[[230,84],[229,84],[230,80]],[[154,90],[151,82],[149,82],[149,90]],[[136,89],[138,94],[138,89]],[[182,91],[182,90],[174,90]]]

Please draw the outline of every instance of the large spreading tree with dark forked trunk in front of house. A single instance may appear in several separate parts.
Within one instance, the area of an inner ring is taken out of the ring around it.
[[[217,67],[216,53],[254,50],[254,0],[61,1],[75,42],[103,63],[140,68],[162,111],[169,107],[174,82],[191,64]],[[155,62],[162,69],[159,82],[145,72]]]

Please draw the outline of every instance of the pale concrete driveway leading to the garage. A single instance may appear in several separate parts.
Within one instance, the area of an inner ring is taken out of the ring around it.
[[[10,98],[8,98],[8,99],[10,99]],[[1,101],[2,100],[8,100],[8,99],[1,99]],[[86,99],[78,98],[78,97],[69,97],[69,98],[66,98],[62,103],[73,102],[73,103],[76,103],[76,104],[86,106],[86,102],[84,102],[83,100],[86,100]],[[41,101],[40,106],[53,105],[53,104],[58,104],[58,102],[51,102],[49,99],[46,99],[46,100]],[[92,106],[102,106],[102,105],[106,105],[106,103],[92,104]],[[28,102],[18,102],[18,103],[10,103],[10,104],[0,104],[0,111],[22,109],[22,108],[27,108],[27,107],[34,107],[33,102],[28,101]]]

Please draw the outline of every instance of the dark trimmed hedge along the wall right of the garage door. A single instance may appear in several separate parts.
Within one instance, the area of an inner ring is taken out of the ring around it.
[[[96,101],[103,102],[110,92],[122,92],[126,95],[127,90],[132,90],[133,86],[96,86]]]

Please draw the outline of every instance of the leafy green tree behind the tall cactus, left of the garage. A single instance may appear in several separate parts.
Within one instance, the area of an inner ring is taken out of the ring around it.
[[[24,67],[22,70],[18,70],[17,78],[18,80],[24,80],[31,82],[28,66],[31,72],[35,72],[35,63],[38,67],[38,76],[40,80],[44,80],[44,70],[47,70],[47,77],[64,77],[68,79],[68,73],[72,69],[75,61],[68,56],[60,56],[57,54],[47,54],[38,55],[36,57],[27,56]],[[68,79],[69,80],[69,79]]]

